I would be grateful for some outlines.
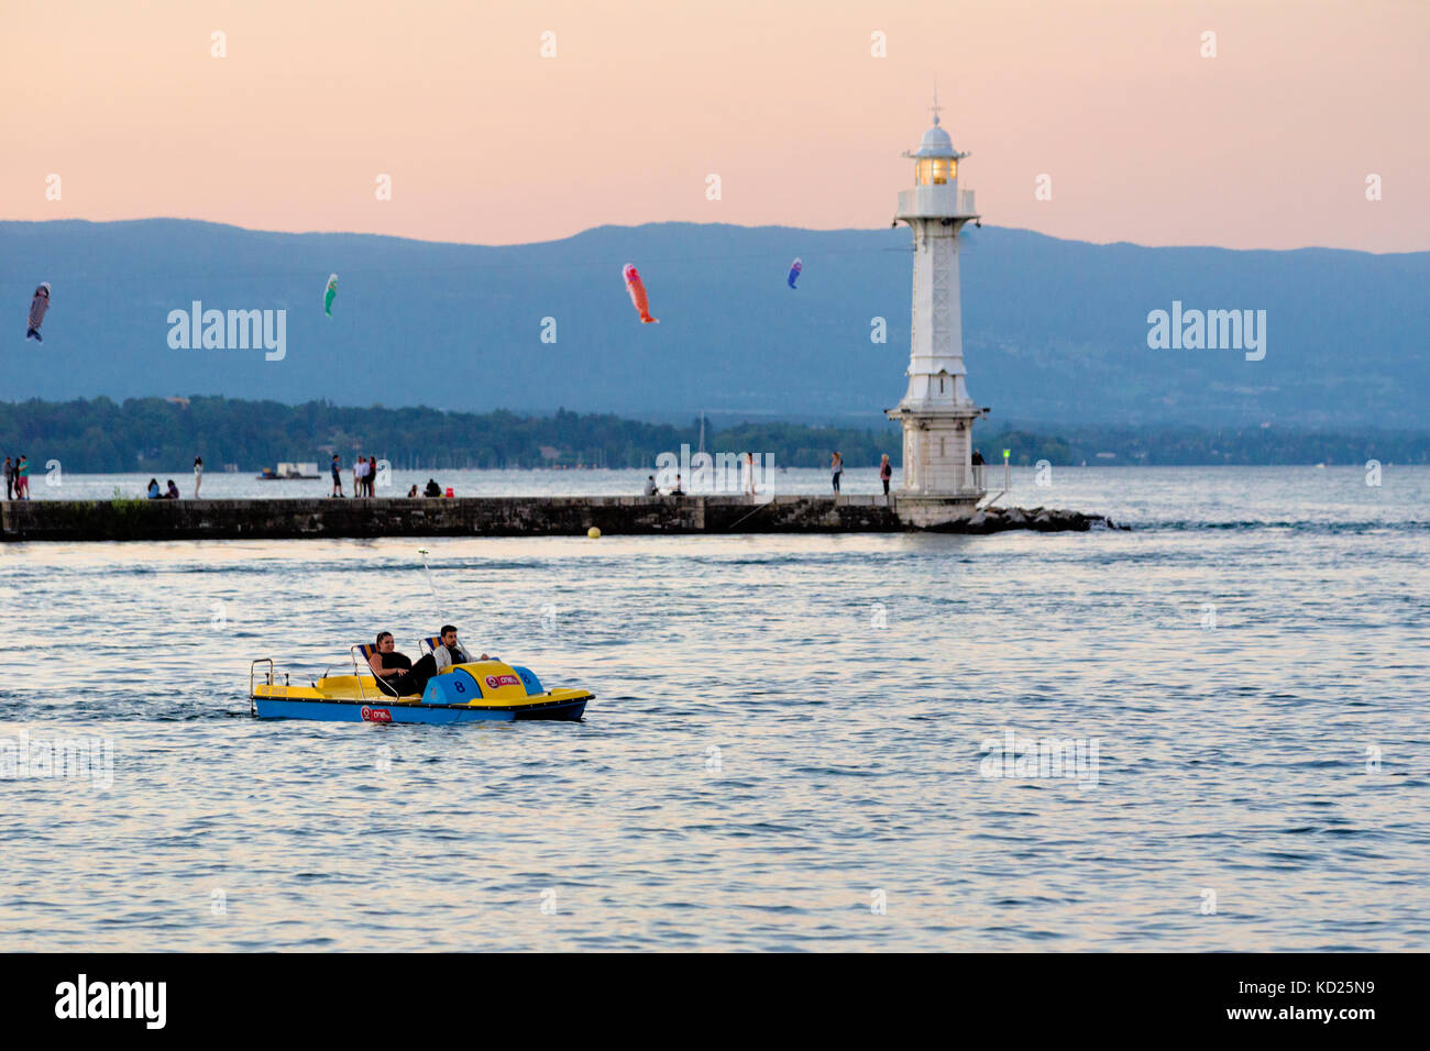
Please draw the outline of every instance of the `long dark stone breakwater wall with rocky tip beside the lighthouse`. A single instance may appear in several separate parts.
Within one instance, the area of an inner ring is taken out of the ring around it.
[[[987,510],[941,532],[1113,526],[1065,510]],[[0,506],[0,539],[200,541],[602,533],[904,532],[898,498],[478,496],[458,499],[29,500]]]

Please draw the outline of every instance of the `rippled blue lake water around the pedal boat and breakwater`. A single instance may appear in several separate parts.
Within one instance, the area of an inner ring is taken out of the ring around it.
[[[0,774],[99,761],[0,779],[0,949],[1423,948],[1430,469],[1381,482],[1022,470],[1133,532],[432,539],[430,575],[408,539],[0,546]],[[255,658],[443,621],[585,721],[249,716]]]

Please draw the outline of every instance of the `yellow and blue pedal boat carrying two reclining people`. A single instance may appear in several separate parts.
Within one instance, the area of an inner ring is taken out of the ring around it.
[[[358,662],[352,673],[329,668],[310,686],[279,682],[272,658],[249,665],[249,711],[259,719],[323,722],[512,722],[515,719],[579,719],[592,699],[586,689],[543,689],[529,668],[500,661],[473,661],[443,668],[428,679],[420,696],[385,694]]]

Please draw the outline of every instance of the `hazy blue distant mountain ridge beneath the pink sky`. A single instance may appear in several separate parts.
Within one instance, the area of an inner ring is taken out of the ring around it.
[[[967,235],[970,389],[992,425],[1421,428],[1430,253]],[[804,259],[799,289],[784,283]],[[621,282],[635,262],[661,325]],[[327,319],[329,272],[340,287]],[[26,342],[40,280],[44,343]],[[1173,300],[1267,312],[1267,355],[1151,350]],[[169,346],[170,310],[286,309],[286,357]],[[0,400],[223,395],[874,426],[904,392],[909,233],[659,223],[483,247],[176,219],[0,223]],[[869,342],[871,317],[888,342]],[[556,342],[541,342],[553,317]],[[1002,420],[1002,423],[1000,423]],[[990,425],[985,425],[990,426]]]

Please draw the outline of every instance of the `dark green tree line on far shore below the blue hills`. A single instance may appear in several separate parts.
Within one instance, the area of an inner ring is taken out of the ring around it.
[[[438,409],[349,408],[220,396],[39,399],[0,405],[0,455],[30,463],[60,460],[80,473],[177,470],[202,456],[210,470],[256,470],[280,460],[320,465],[337,453],[378,456],[395,468],[654,468],[661,452],[698,448],[701,422],[646,423],[603,413],[558,410],[551,416],[505,409],[488,413]],[[1274,465],[1430,462],[1430,432],[1288,428],[1128,428],[1075,425],[1007,429],[980,423],[977,445],[990,462],[1008,449],[1015,465],[1048,460],[1087,465]],[[772,453],[775,463],[824,468],[838,449],[849,468],[888,453],[901,460],[894,423],[877,428],[805,423],[705,426],[709,452]]]

